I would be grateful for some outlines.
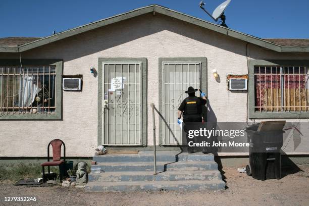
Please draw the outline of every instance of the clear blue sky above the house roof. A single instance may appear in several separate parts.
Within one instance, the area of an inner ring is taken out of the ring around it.
[[[43,37],[139,7],[159,4],[210,22],[200,0],[39,1],[2,0],[0,37]],[[205,0],[212,11],[224,0]],[[261,38],[309,38],[308,0],[232,0],[225,14],[229,28]]]

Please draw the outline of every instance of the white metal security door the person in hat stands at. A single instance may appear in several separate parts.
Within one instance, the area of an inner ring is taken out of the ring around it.
[[[163,144],[182,143],[182,132],[177,124],[178,108],[187,94],[189,86],[200,89],[200,62],[163,62],[163,111],[164,118],[170,128],[164,124]],[[199,96],[196,92],[196,96]]]

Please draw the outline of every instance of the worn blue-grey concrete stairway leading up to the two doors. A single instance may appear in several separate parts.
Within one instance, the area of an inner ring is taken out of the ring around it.
[[[224,189],[213,155],[157,152],[158,175],[153,175],[153,153],[94,156],[100,174],[89,174],[86,191]]]

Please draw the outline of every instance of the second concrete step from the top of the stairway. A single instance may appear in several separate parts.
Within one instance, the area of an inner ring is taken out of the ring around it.
[[[113,171],[153,171],[153,162],[116,162],[99,163],[91,168],[100,168],[104,172]],[[215,161],[187,161],[187,162],[157,162],[157,171],[196,171],[218,170]]]

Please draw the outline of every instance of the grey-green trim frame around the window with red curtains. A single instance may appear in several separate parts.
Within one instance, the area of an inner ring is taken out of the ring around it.
[[[255,66],[305,66],[309,68],[309,60],[248,60],[249,82],[248,82],[248,118],[250,119],[289,119],[309,118],[309,111],[291,112],[255,112],[254,95],[254,67]]]

